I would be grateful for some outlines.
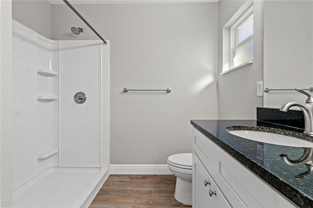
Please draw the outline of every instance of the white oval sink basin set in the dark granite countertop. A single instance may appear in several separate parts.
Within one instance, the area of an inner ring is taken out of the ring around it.
[[[252,130],[227,130],[229,133],[256,142],[263,142],[273,145],[295,146],[295,147],[313,147],[312,142],[297,139],[294,137]]]

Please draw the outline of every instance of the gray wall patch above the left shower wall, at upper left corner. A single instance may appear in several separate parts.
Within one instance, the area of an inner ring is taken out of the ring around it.
[[[51,5],[46,0],[13,0],[12,19],[51,38]]]

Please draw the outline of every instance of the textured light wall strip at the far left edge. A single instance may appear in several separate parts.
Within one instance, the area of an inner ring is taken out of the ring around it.
[[[12,207],[12,3],[0,1],[0,207]]]

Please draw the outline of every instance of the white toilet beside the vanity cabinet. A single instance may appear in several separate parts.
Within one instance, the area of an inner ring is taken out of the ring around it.
[[[175,199],[184,205],[192,205],[192,153],[169,156],[167,166],[177,177]]]

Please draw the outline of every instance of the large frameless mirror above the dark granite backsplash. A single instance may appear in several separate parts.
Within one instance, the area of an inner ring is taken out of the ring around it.
[[[264,0],[263,15],[264,88],[313,87],[313,1]],[[264,107],[279,108],[288,102],[304,103],[306,97],[279,90],[264,93],[263,99]]]

